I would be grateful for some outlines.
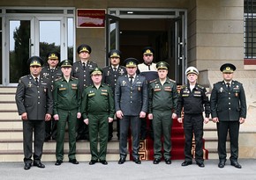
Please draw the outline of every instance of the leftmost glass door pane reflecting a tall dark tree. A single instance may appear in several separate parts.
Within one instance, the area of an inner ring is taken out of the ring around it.
[[[5,61],[5,83],[18,83],[19,77],[27,75],[29,68],[26,61],[34,54],[34,18],[8,19],[8,53]]]

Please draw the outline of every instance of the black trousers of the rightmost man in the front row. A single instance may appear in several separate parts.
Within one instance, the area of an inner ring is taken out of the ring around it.
[[[237,161],[239,126],[239,121],[220,121],[217,123],[220,161],[226,161],[227,158],[226,141],[228,132],[230,134],[230,161]]]

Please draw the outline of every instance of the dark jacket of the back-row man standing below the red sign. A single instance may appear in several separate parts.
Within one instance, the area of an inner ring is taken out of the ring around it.
[[[82,93],[87,85],[93,84],[90,72],[96,68],[97,64],[94,61],[87,61],[86,68],[83,68],[81,61],[76,61],[72,66],[72,76],[79,79],[79,90]]]

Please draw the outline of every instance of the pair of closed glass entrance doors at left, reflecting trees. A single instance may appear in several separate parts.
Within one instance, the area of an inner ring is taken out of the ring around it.
[[[61,28],[63,18],[8,18],[7,22],[5,52],[9,61],[4,61],[4,85],[15,85],[19,77],[29,74],[27,60],[31,56],[38,55],[47,61],[47,54],[56,51],[62,59],[67,58],[68,30]]]

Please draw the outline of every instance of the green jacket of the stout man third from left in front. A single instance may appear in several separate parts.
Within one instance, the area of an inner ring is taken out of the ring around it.
[[[99,89],[94,85],[88,86],[82,95],[82,116],[87,119],[87,114],[108,114],[114,118],[115,106],[112,90],[109,85],[101,84]]]

